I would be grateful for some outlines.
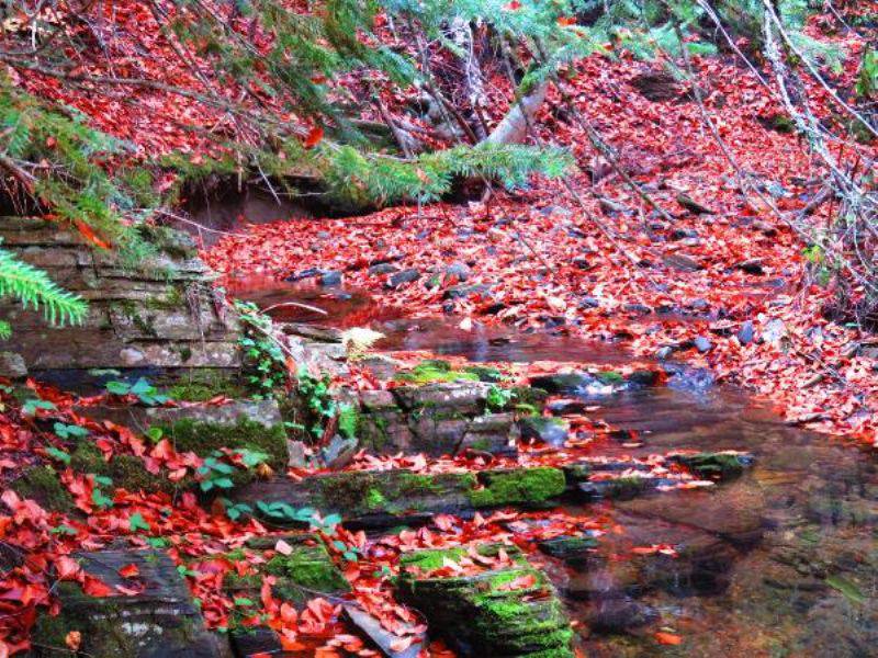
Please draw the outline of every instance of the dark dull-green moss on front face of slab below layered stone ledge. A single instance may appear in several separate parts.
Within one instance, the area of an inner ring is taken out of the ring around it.
[[[235,424],[221,424],[184,418],[171,426],[158,427],[178,452],[191,451],[204,457],[221,447],[249,449],[267,453],[268,464],[274,470],[286,468],[286,432],[280,423],[266,427],[241,417]]]

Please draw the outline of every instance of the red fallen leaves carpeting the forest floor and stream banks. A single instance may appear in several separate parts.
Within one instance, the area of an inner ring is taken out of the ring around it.
[[[145,67],[159,79],[172,76],[180,84],[196,84],[182,69],[162,68],[173,58],[162,54],[160,37],[150,36],[148,13],[124,5],[119,19],[138,25],[142,45],[150,53],[146,58],[138,55],[133,69]],[[840,82],[846,79],[849,84],[862,42],[851,38],[846,45],[848,66]],[[120,47],[124,55],[125,46]],[[140,49],[128,48],[132,61],[135,52]],[[576,157],[578,171],[563,181],[534,180],[528,191],[495,191],[484,202],[401,206],[354,217],[246,227],[243,217],[236,230],[240,235],[223,238],[203,258],[229,282],[254,276],[280,281],[309,269],[338,271],[348,288],[378,299],[381,313],[393,307],[405,317],[442,316],[468,332],[480,325],[511,325],[621,345],[643,362],[685,361],[709,368],[719,382],[753,392],[791,424],[873,446],[878,441],[878,339],[828,319],[837,292],[820,285],[815,263],[808,257],[808,236],[793,228],[807,218],[819,229],[831,217],[831,201],[812,204],[824,174],[778,118],[776,100],[753,71],[731,58],[694,58],[693,65],[698,93],[665,81],[662,100],[650,100],[641,89],[644,76],[656,73],[654,65],[627,56],[594,56],[577,65],[564,82],[574,110],[553,91],[537,122],[539,140],[566,146]],[[21,83],[45,97],[61,94],[38,76]],[[810,91],[817,103],[825,103],[819,86]],[[61,97],[99,127],[130,139],[142,155],[182,148],[194,162],[214,148],[181,125],[194,121],[216,128],[221,120],[211,113],[193,114],[181,98],[148,89]],[[614,147],[617,161],[596,151],[586,124]],[[348,322],[368,326],[375,319],[373,313]],[[527,378],[570,365],[538,362],[516,374]],[[356,364],[350,373],[337,383],[363,389],[384,386]],[[58,456],[57,436],[47,438],[50,434],[34,424],[34,415],[80,426],[106,458],[135,455],[151,473],[168,474],[175,481],[203,465],[192,453],[178,453],[167,440],[150,443],[110,421],[86,419],[75,408],[104,398],[76,399],[33,382],[30,388],[55,407],[35,413],[31,409],[29,417],[12,398],[5,400],[7,413],[0,420],[4,477],[23,465],[65,460]],[[588,427],[596,429],[611,430]],[[571,454],[578,447],[572,445]],[[524,451],[516,465],[550,465],[552,460]],[[75,551],[105,547],[120,536],[135,548],[147,548],[160,538],[175,561],[187,565],[187,582],[212,628],[225,627],[239,612],[236,600],[222,589],[225,576],[251,575],[285,551],[275,544],[268,552],[229,559],[224,557],[229,549],[267,534],[260,521],[233,520],[222,509],[205,509],[192,494],[171,502],[161,494],[116,489],[108,504],[108,492],[93,475],[60,462],[60,481],[72,497],[75,513],[47,511],[9,489],[2,494],[11,511],[0,517],[3,546],[24,552],[26,559],[0,579],[0,658],[30,646],[37,610],[58,609],[55,593],[60,581],[77,581],[94,597],[138,592],[136,569],[126,569],[131,582],[114,591],[70,558]],[[498,464],[511,465],[491,462]],[[481,457],[359,455],[346,469],[393,466],[435,474],[483,470],[487,465]],[[295,472],[291,479],[306,475]],[[680,476],[680,483],[701,486],[688,475]],[[331,540],[339,544],[330,542],[329,549],[353,585],[352,598],[393,629],[402,651],[417,644],[424,625],[392,593],[401,554],[497,541],[532,545],[564,533],[594,531],[615,532],[604,510],[579,515],[493,511],[468,519],[439,514],[428,526],[379,540],[338,526]],[[634,555],[674,554],[661,543],[628,549]],[[344,557],[350,551],[359,553],[359,561]],[[508,556],[470,557],[465,568],[474,572],[508,561]],[[254,619],[268,620],[286,650],[326,657],[346,651],[375,655],[342,621],[336,600],[317,597],[296,611],[268,586],[258,599],[252,602],[259,611]],[[75,651],[80,639],[68,635],[67,646]],[[655,629],[652,640],[669,647],[684,642],[665,629]],[[431,649],[436,656],[447,653],[441,642]]]

